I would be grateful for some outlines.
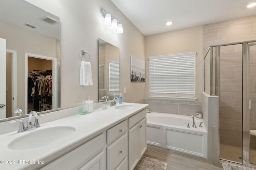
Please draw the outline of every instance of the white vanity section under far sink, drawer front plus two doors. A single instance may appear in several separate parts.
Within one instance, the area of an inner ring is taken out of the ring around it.
[[[131,128],[130,128],[131,127]],[[129,118],[128,160],[129,170],[133,170],[146,151],[146,110]]]

